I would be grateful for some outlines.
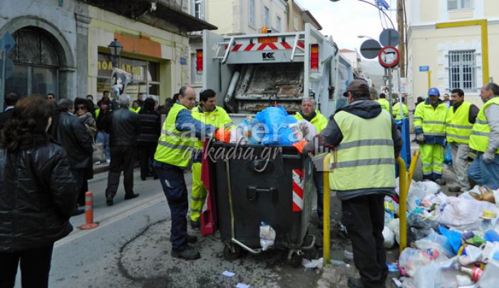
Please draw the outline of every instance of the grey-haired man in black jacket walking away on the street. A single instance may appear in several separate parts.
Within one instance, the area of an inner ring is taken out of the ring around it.
[[[118,190],[121,170],[123,170],[123,185],[125,200],[138,197],[133,192],[133,163],[137,153],[137,135],[140,133],[140,122],[137,113],[128,110],[130,96],[120,95],[120,108],[114,110],[109,117],[109,140],[111,163],[109,165],[108,188],[106,189],[106,204],[114,204],[113,198]]]

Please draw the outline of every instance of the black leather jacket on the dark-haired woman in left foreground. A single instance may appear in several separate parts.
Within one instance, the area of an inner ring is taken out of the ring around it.
[[[60,145],[19,153],[0,149],[0,253],[43,247],[68,235],[77,195]]]

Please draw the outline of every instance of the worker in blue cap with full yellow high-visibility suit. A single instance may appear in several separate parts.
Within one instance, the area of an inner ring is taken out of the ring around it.
[[[442,180],[443,146],[446,142],[447,106],[440,98],[437,88],[430,88],[428,98],[416,106],[413,125],[416,142],[421,150],[423,179],[446,185]]]

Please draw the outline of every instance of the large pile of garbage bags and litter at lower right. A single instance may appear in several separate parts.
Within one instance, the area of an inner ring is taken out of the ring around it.
[[[385,247],[398,242],[396,200],[385,198]],[[406,207],[411,247],[398,259],[399,287],[499,287],[499,190],[448,197],[435,182],[413,181]]]

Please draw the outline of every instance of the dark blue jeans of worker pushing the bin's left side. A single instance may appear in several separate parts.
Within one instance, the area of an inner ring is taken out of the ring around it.
[[[170,213],[172,216],[172,227],[170,229],[170,240],[172,249],[182,251],[187,245],[187,185],[185,185],[184,171],[173,165],[153,162],[153,167],[160,178],[163,192],[165,192]]]

